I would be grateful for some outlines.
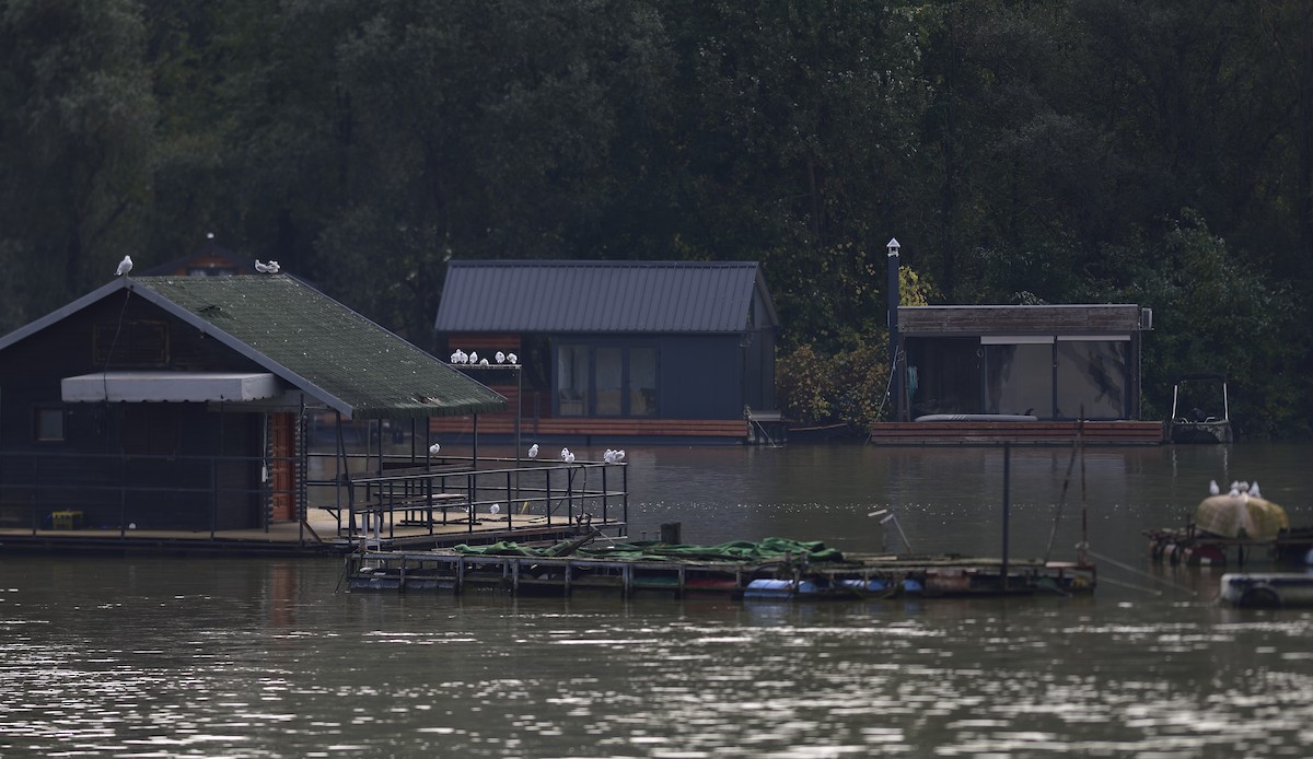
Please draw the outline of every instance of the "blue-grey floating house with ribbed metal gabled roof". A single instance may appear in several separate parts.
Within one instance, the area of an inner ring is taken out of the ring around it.
[[[777,327],[756,263],[705,261],[450,261],[435,323],[453,356],[491,366],[466,372],[511,398],[481,431],[583,443],[765,433]],[[499,370],[498,353],[521,370]]]

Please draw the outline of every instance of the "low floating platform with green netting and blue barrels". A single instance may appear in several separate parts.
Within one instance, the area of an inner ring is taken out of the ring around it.
[[[772,538],[779,540],[779,538]],[[578,541],[576,541],[578,542]],[[566,544],[562,544],[566,545]],[[754,544],[726,544],[751,546]],[[818,544],[794,544],[815,546]],[[1088,594],[1091,565],[961,555],[840,555],[832,549],[784,553],[723,546],[614,544],[600,552],[554,555],[559,546],[515,545],[478,552],[360,552],[344,571],[348,591],[496,591],[516,595],[572,595],[583,591],[629,597],[660,594],[716,595],[746,600],[860,600],[898,596],[1014,596]],[[676,550],[668,550],[676,549]],[[723,554],[717,558],[717,554]]]

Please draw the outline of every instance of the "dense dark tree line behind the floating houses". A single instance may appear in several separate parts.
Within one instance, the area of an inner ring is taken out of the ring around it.
[[[0,0],[0,331],[206,232],[420,344],[453,256],[760,260],[865,387],[897,236],[937,302],[1152,306],[1149,416],[1221,370],[1302,435],[1313,4]]]

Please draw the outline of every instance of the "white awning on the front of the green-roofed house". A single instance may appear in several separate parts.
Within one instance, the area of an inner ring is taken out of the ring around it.
[[[64,377],[60,390],[64,403],[260,401],[281,391],[268,372],[98,372]]]

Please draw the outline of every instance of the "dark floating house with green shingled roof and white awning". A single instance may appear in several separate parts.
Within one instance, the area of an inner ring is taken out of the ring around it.
[[[0,532],[309,527],[310,485],[352,471],[311,458],[311,418],[423,439],[506,404],[290,276],[119,277],[0,337]]]

